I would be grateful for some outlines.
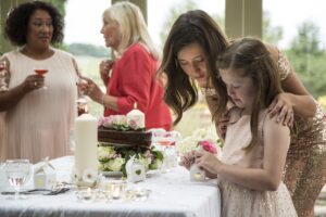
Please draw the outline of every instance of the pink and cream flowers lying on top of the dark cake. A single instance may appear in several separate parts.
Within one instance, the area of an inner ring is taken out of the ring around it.
[[[128,131],[128,130],[138,130],[143,131],[145,128],[139,126],[140,123],[137,122],[135,118],[128,119],[126,115],[110,115],[108,117],[100,117],[98,126],[121,130],[121,131]]]

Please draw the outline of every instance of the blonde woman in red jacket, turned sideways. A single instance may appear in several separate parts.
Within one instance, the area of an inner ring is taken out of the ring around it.
[[[104,61],[100,65],[106,93],[88,78],[88,84],[79,87],[104,105],[104,116],[126,114],[136,103],[146,115],[147,129],[170,130],[171,113],[163,101],[162,84],[155,77],[159,54],[140,9],[130,2],[113,4],[103,12],[101,34],[105,46],[115,54],[115,61]]]

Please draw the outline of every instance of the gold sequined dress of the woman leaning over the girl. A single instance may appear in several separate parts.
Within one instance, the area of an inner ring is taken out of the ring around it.
[[[277,73],[281,80],[285,80],[294,71],[288,59],[278,50],[277,52]],[[208,90],[202,92],[211,113],[214,114],[218,99],[214,89]],[[314,117],[294,116],[294,128],[291,131],[285,168],[284,182],[290,191],[300,217],[313,216],[314,203],[326,183],[326,113],[317,101],[315,104]]]

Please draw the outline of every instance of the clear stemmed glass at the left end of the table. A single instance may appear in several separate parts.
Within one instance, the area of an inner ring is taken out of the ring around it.
[[[15,200],[26,199],[20,195],[21,187],[27,182],[32,170],[28,159],[8,159],[4,163],[4,171],[10,186],[15,190]]]

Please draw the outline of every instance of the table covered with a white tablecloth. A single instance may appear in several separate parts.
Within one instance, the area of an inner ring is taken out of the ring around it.
[[[70,180],[73,156],[52,161],[58,180]],[[59,195],[28,195],[28,200],[0,199],[0,216],[33,217],[220,217],[216,180],[191,182],[189,173],[176,167],[133,183],[152,191],[147,201],[80,203],[74,191]]]

